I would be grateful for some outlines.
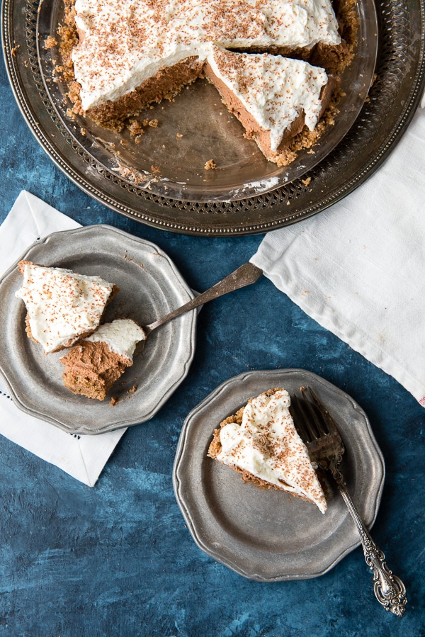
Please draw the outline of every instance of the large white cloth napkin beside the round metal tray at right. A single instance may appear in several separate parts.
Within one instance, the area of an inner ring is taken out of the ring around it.
[[[425,110],[368,181],[251,261],[425,407]]]

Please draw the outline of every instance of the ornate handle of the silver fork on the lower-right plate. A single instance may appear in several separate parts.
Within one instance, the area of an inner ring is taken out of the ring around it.
[[[358,533],[360,534],[363,552],[365,554],[365,561],[373,573],[373,589],[375,597],[378,599],[378,602],[382,604],[385,610],[402,617],[407,604],[404,584],[402,580],[400,580],[397,575],[393,575],[392,571],[387,567],[384,553],[382,553],[380,548],[376,546],[375,542],[370,537],[368,529],[366,529],[363,520],[353,504],[353,500],[351,500],[351,495],[348,492],[341,472],[336,468],[336,466],[329,466],[329,470],[331,470],[331,473],[336,480],[339,491],[344,498],[344,502],[346,503],[348,511],[351,513],[351,517],[356,523]]]

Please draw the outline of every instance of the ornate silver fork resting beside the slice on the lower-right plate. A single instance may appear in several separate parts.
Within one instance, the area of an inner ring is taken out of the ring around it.
[[[373,572],[373,588],[376,599],[385,610],[402,617],[407,604],[404,584],[387,567],[385,555],[376,546],[358,514],[339,469],[345,451],[341,435],[336,428],[334,420],[313,390],[305,387],[300,388],[300,390],[302,398],[293,396],[290,407],[295,427],[307,446],[312,462],[316,462],[319,467],[330,471],[332,474],[348,507],[348,511],[356,523],[366,564]]]

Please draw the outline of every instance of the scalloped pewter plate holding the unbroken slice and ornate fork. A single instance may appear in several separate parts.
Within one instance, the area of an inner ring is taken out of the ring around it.
[[[273,387],[290,395],[310,385],[339,427],[346,453],[348,489],[368,527],[380,503],[385,478],[382,453],[368,417],[350,396],[302,369],[261,370],[230,378],[186,418],[174,461],[174,493],[198,546],[251,580],[276,582],[323,575],[359,537],[334,483],[324,476],[328,509],[288,493],[260,490],[234,470],[208,458],[212,432],[246,401]]]

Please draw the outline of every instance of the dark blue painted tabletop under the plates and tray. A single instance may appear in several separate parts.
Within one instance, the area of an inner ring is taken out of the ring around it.
[[[174,235],[92,201],[38,146],[3,62],[0,91],[0,221],[25,188],[83,225],[156,242],[200,291],[256,251],[261,236]],[[184,524],[171,470],[186,415],[230,376],[285,367],[319,373],[368,413],[387,470],[373,536],[407,586],[402,620],[375,601],[361,548],[315,580],[263,584],[205,556]],[[151,422],[128,430],[94,488],[0,439],[0,634],[423,637],[424,426],[407,391],[266,278],[216,300],[200,314],[188,377]]]

